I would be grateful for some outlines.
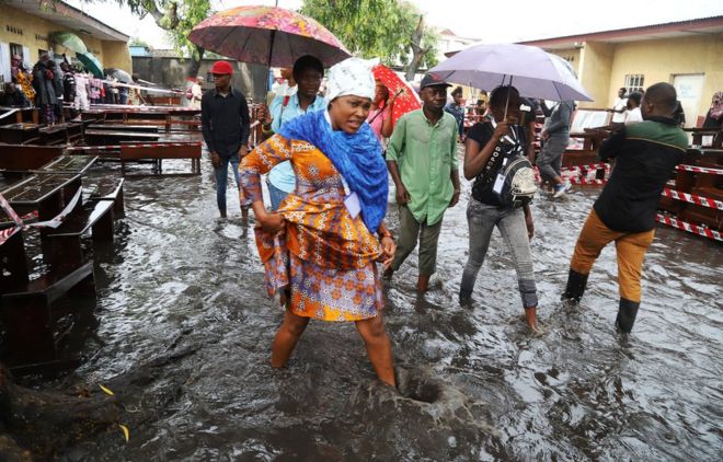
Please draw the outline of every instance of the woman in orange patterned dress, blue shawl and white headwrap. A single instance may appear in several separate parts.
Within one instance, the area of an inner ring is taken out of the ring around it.
[[[286,305],[272,366],[286,365],[310,319],[353,321],[377,377],[395,385],[376,265],[388,266],[395,251],[382,222],[387,168],[365,123],[374,94],[366,61],[349,58],[332,67],[328,109],[288,122],[246,155],[240,166],[241,194],[260,223],[256,245],[268,294],[278,291]],[[287,160],[297,175],[296,190],[268,212],[261,175]]]

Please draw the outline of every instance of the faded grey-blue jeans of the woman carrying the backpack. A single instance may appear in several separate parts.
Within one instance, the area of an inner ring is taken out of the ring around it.
[[[467,222],[469,223],[470,233],[470,256],[462,273],[462,284],[459,288],[460,300],[469,298],[474,290],[477,274],[480,272],[482,263],[484,263],[492,231],[496,226],[512,253],[523,307],[537,307],[532,256],[530,254],[529,238],[527,236],[527,226],[525,224],[525,211],[521,207],[514,209],[497,208],[470,197],[467,207]]]

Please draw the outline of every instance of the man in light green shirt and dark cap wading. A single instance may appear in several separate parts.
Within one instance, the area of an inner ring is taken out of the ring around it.
[[[435,73],[422,79],[422,108],[402,116],[387,147],[387,166],[397,186],[400,236],[387,278],[420,241],[416,288],[426,292],[437,266],[437,241],[447,207],[459,200],[457,120],[444,111],[449,83]]]

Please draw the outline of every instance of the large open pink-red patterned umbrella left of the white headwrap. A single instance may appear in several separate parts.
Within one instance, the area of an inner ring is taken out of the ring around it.
[[[206,19],[188,39],[242,62],[292,67],[303,55],[324,66],[351,56],[344,45],[311,18],[275,7],[238,7]]]

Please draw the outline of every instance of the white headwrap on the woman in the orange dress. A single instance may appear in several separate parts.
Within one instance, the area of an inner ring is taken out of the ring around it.
[[[326,81],[326,101],[349,94],[374,100],[377,84],[372,67],[372,61],[360,58],[348,58],[332,66]]]

